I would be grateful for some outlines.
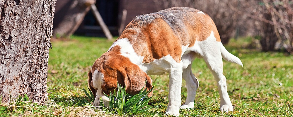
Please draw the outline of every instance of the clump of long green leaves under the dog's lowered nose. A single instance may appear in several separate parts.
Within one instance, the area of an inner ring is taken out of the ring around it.
[[[132,95],[126,93],[125,87],[119,85],[117,82],[117,91],[114,90],[113,93],[110,92],[109,95],[105,94],[110,99],[109,107],[105,107],[103,99],[100,98],[100,109],[107,112],[114,112],[118,115],[137,115],[138,113],[148,111],[153,107],[148,105],[148,102],[152,97],[148,97],[147,95],[153,90],[153,88],[154,87],[147,90],[147,88],[144,89],[144,87],[142,87],[138,94]],[[90,105],[91,102],[94,101],[93,93],[89,88],[89,93],[85,89],[83,90],[87,99],[82,98],[80,104]]]

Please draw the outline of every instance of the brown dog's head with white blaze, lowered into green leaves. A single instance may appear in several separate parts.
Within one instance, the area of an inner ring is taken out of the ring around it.
[[[99,106],[102,97],[104,104],[108,106],[109,99],[103,93],[109,95],[114,89],[117,90],[117,82],[129,94],[137,94],[142,87],[148,90],[152,88],[151,78],[139,66],[120,54],[106,52],[88,72],[88,84],[95,97],[93,105]],[[152,96],[152,92],[148,96]]]

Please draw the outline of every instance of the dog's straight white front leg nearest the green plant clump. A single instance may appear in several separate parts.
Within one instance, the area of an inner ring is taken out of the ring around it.
[[[181,84],[182,84],[182,61],[173,65],[169,72],[169,104],[166,111],[167,115],[179,116],[181,106]]]

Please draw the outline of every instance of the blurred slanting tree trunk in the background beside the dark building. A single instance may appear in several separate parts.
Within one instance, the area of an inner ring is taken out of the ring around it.
[[[95,4],[96,0],[72,0],[70,2],[68,13],[53,30],[54,37],[71,36],[84,20],[86,13],[91,9],[91,4]]]

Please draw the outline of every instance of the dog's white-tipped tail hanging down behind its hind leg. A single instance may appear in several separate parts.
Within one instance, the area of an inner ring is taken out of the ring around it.
[[[241,60],[234,56],[233,54],[231,54],[224,46],[223,44],[221,43],[221,53],[222,53],[222,58],[225,60],[225,61],[228,61],[228,62],[231,62],[231,63],[236,63],[236,64],[239,64],[243,67],[243,64],[241,62]]]

